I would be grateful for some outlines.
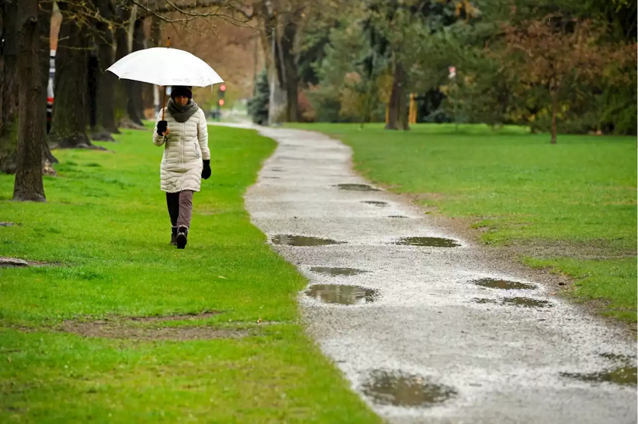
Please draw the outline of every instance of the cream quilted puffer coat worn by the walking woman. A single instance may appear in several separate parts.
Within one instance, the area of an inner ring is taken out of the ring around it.
[[[186,122],[177,122],[167,109],[165,120],[170,132],[163,137],[158,136],[160,120],[161,111],[153,131],[154,145],[166,143],[160,167],[161,189],[168,193],[182,190],[198,192],[202,184],[202,160],[211,159],[204,111],[200,108]]]

